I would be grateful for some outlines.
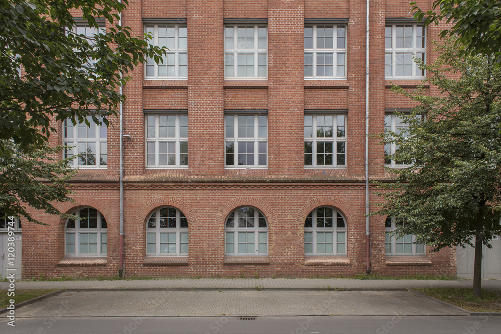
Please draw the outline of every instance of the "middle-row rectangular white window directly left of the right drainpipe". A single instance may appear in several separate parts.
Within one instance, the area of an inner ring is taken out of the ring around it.
[[[346,114],[304,117],[305,167],[346,168]]]

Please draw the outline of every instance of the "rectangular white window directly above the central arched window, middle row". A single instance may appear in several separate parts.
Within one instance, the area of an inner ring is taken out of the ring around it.
[[[224,115],[224,166],[266,168],[268,166],[268,115]]]

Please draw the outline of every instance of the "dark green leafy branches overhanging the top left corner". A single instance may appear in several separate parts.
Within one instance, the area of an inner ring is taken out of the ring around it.
[[[52,121],[86,122],[92,115],[116,115],[125,97],[118,87],[145,57],[156,62],[164,49],[131,37],[119,26],[127,0],[0,1],[0,158],[14,153],[12,140],[27,153],[48,142]],[[95,29],[77,34],[72,11]],[[109,22],[100,29],[101,19]],[[122,74],[125,76],[122,78]],[[104,118],[108,125],[108,120]]]

